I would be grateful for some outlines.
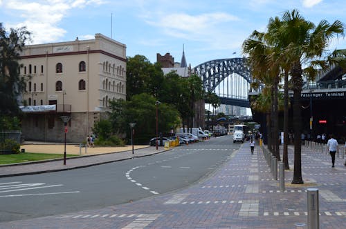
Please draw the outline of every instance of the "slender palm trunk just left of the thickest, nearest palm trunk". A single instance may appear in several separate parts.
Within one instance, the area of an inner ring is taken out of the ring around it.
[[[284,148],[282,160],[284,169],[289,170],[289,71],[284,72]]]

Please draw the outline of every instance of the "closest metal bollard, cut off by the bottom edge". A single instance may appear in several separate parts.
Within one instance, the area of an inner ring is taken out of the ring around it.
[[[307,227],[308,229],[320,228],[318,188],[307,189]]]

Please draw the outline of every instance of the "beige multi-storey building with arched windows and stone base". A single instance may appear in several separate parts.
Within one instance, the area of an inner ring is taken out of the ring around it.
[[[81,142],[111,99],[126,99],[126,46],[95,34],[95,39],[26,46],[21,75],[30,76],[23,93],[24,139]]]

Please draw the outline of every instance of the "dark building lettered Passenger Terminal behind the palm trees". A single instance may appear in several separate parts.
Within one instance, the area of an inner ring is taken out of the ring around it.
[[[250,92],[249,97],[255,95]],[[289,92],[291,99],[293,92]],[[334,66],[322,72],[316,81],[304,83],[301,94],[302,133],[306,139],[316,140],[317,135],[331,134],[339,143],[346,141],[346,70]],[[291,100],[291,103],[293,101]],[[253,112],[253,120],[261,123],[261,131],[266,135],[266,117]],[[279,115],[280,129],[283,129],[283,112]],[[293,132],[293,110],[289,108],[289,131]]]

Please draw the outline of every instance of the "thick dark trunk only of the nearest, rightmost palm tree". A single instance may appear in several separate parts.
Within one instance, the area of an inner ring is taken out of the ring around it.
[[[300,135],[302,134],[301,124],[301,102],[300,93],[302,92],[302,66],[300,62],[292,67],[293,85],[293,128],[294,128],[294,172],[291,183],[302,184],[302,145]]]

